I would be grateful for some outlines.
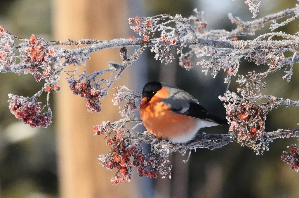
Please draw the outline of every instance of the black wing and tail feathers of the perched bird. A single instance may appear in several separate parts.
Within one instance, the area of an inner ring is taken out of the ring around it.
[[[207,120],[210,122],[216,122],[218,124],[228,124],[226,119],[220,118],[216,115],[208,114],[208,110],[205,109],[202,105],[198,103],[189,103],[189,109],[186,112],[179,112],[179,110],[172,109],[173,112],[186,115],[190,117],[195,117],[203,120]]]

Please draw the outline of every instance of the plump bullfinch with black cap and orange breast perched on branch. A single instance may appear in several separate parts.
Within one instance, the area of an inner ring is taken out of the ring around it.
[[[172,143],[189,142],[203,127],[228,124],[189,93],[158,81],[144,85],[139,113],[149,133]]]

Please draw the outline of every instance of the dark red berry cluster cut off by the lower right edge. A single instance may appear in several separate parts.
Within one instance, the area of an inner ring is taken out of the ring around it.
[[[291,165],[291,169],[298,172],[299,171],[299,148],[297,145],[288,146],[290,152],[283,151],[281,155],[281,160]]]

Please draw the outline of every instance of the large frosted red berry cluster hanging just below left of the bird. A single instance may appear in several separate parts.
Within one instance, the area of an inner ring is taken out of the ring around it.
[[[138,168],[140,177],[158,177],[158,171],[153,170],[158,166],[157,157],[153,154],[146,156],[143,154],[142,147],[139,144],[131,142],[129,131],[124,123],[103,122],[102,125],[94,126],[93,132],[94,135],[102,134],[108,137],[106,145],[110,146],[110,152],[109,154],[101,155],[99,160],[107,170],[118,169],[116,175],[111,179],[113,184],[122,183],[125,180],[130,181],[132,179],[132,166]]]

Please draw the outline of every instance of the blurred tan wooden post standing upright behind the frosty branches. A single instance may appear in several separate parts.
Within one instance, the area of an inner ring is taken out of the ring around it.
[[[97,38],[108,40],[126,36],[129,30],[125,0],[54,0],[54,38]],[[95,52],[84,69],[93,72],[107,68],[108,61],[120,61],[119,49]],[[81,66],[83,69],[84,66]],[[128,71],[125,72],[128,74]],[[123,74],[115,85],[130,85]],[[103,120],[118,120],[118,108],[111,103],[110,90],[101,113],[89,113],[86,99],[72,95],[62,75],[61,90],[56,95],[54,119],[57,123],[57,146],[60,197],[132,197],[136,194],[133,183],[114,186],[110,179],[115,170],[107,171],[99,165],[99,154],[109,148],[102,136],[93,136],[92,126]],[[137,174],[135,174],[136,176]],[[134,180],[133,180],[134,181]],[[136,196],[136,195],[135,195]]]

